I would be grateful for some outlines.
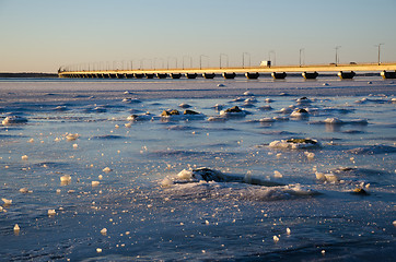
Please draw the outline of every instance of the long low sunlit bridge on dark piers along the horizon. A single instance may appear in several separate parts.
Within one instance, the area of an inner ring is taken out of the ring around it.
[[[234,79],[245,75],[258,79],[260,74],[271,74],[273,79],[284,79],[288,73],[301,73],[305,79],[316,79],[321,73],[336,72],[340,79],[352,79],[356,72],[377,72],[384,79],[396,79],[396,63],[350,63],[350,64],[312,64],[278,67],[242,67],[242,68],[188,68],[188,69],[136,69],[136,70],[78,70],[69,71],[60,68],[59,78],[84,79],[213,79],[223,76]]]

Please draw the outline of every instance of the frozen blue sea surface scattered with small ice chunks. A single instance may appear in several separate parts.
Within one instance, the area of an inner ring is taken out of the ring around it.
[[[391,261],[396,85],[370,80],[0,81],[27,119],[0,126],[0,258]],[[174,182],[199,167],[237,179]]]

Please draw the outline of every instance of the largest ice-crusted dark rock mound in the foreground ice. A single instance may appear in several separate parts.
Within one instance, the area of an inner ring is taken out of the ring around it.
[[[226,175],[210,168],[184,169],[174,178],[161,182],[168,199],[234,199],[267,201],[312,196],[318,192],[300,184],[281,183],[253,178],[251,176]]]

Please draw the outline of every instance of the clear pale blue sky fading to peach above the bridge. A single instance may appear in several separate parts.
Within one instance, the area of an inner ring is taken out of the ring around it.
[[[396,61],[396,0],[0,0],[0,72]],[[301,51],[300,51],[301,50]],[[221,55],[222,53],[222,55]]]

